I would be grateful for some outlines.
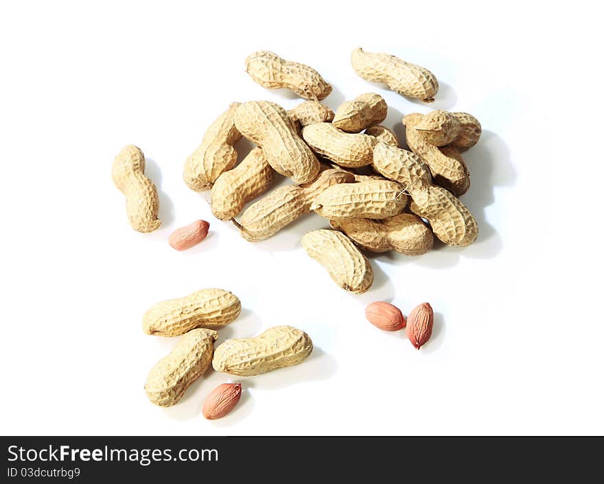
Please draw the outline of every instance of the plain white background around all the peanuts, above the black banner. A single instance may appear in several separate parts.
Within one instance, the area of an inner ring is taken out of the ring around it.
[[[590,2],[482,4],[3,2],[1,432],[604,433],[599,16]],[[437,101],[364,82],[349,63],[358,46],[427,66]],[[401,138],[403,114],[475,114],[484,134],[465,154],[463,202],[478,241],[371,256],[373,288],[350,295],[300,246],[321,217],[254,245],[214,219],[181,180],[207,125],[231,101],[299,102],[246,75],[257,49],[318,69],[332,108],[380,93]],[[152,234],[130,228],[111,182],[128,143],[159,188]],[[168,235],[194,219],[210,221],[207,240],[172,250]],[[208,374],[175,407],[155,407],[143,383],[174,340],[144,335],[141,316],[204,287],[242,300],[220,341],[290,324],[316,349],[254,378]],[[432,340],[418,352],[404,332],[371,326],[374,300],[404,313],[429,301]],[[242,401],[208,422],[203,399],[230,380]]]

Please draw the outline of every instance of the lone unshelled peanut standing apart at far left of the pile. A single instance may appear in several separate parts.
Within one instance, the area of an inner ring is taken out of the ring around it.
[[[145,156],[128,145],[113,160],[111,179],[126,196],[126,215],[137,232],[153,232],[161,225],[157,218],[159,198],[153,182],[145,176]]]

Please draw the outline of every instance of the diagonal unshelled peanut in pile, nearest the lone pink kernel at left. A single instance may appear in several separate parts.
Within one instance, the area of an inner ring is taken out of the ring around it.
[[[262,195],[275,178],[275,170],[266,161],[262,148],[254,148],[239,165],[225,171],[212,187],[211,208],[214,217],[230,220],[245,204]]]

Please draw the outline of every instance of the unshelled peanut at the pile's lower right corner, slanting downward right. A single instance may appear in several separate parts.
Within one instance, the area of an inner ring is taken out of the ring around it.
[[[470,245],[478,224],[464,204],[441,186],[411,193],[410,210],[430,222],[432,231],[447,245]]]

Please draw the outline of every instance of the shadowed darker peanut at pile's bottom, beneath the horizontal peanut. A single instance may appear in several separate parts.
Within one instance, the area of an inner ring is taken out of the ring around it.
[[[371,252],[394,250],[407,256],[419,256],[428,252],[434,243],[432,230],[412,213],[401,213],[383,220],[332,220],[330,224]]]

